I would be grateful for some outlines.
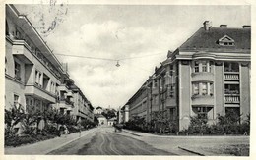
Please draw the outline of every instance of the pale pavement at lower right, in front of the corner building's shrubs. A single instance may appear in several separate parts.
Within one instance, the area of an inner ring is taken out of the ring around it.
[[[130,130],[123,131],[158,149],[174,151],[177,154],[180,153],[180,155],[187,152],[198,156],[230,156],[230,154],[222,152],[222,149],[228,149],[233,145],[249,145],[250,143],[250,136],[176,136],[140,133]]]

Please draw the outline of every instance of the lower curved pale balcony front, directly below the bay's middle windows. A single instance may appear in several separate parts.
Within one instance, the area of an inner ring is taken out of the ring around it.
[[[214,96],[213,95],[193,95],[191,97],[192,105],[200,106],[213,106]]]

